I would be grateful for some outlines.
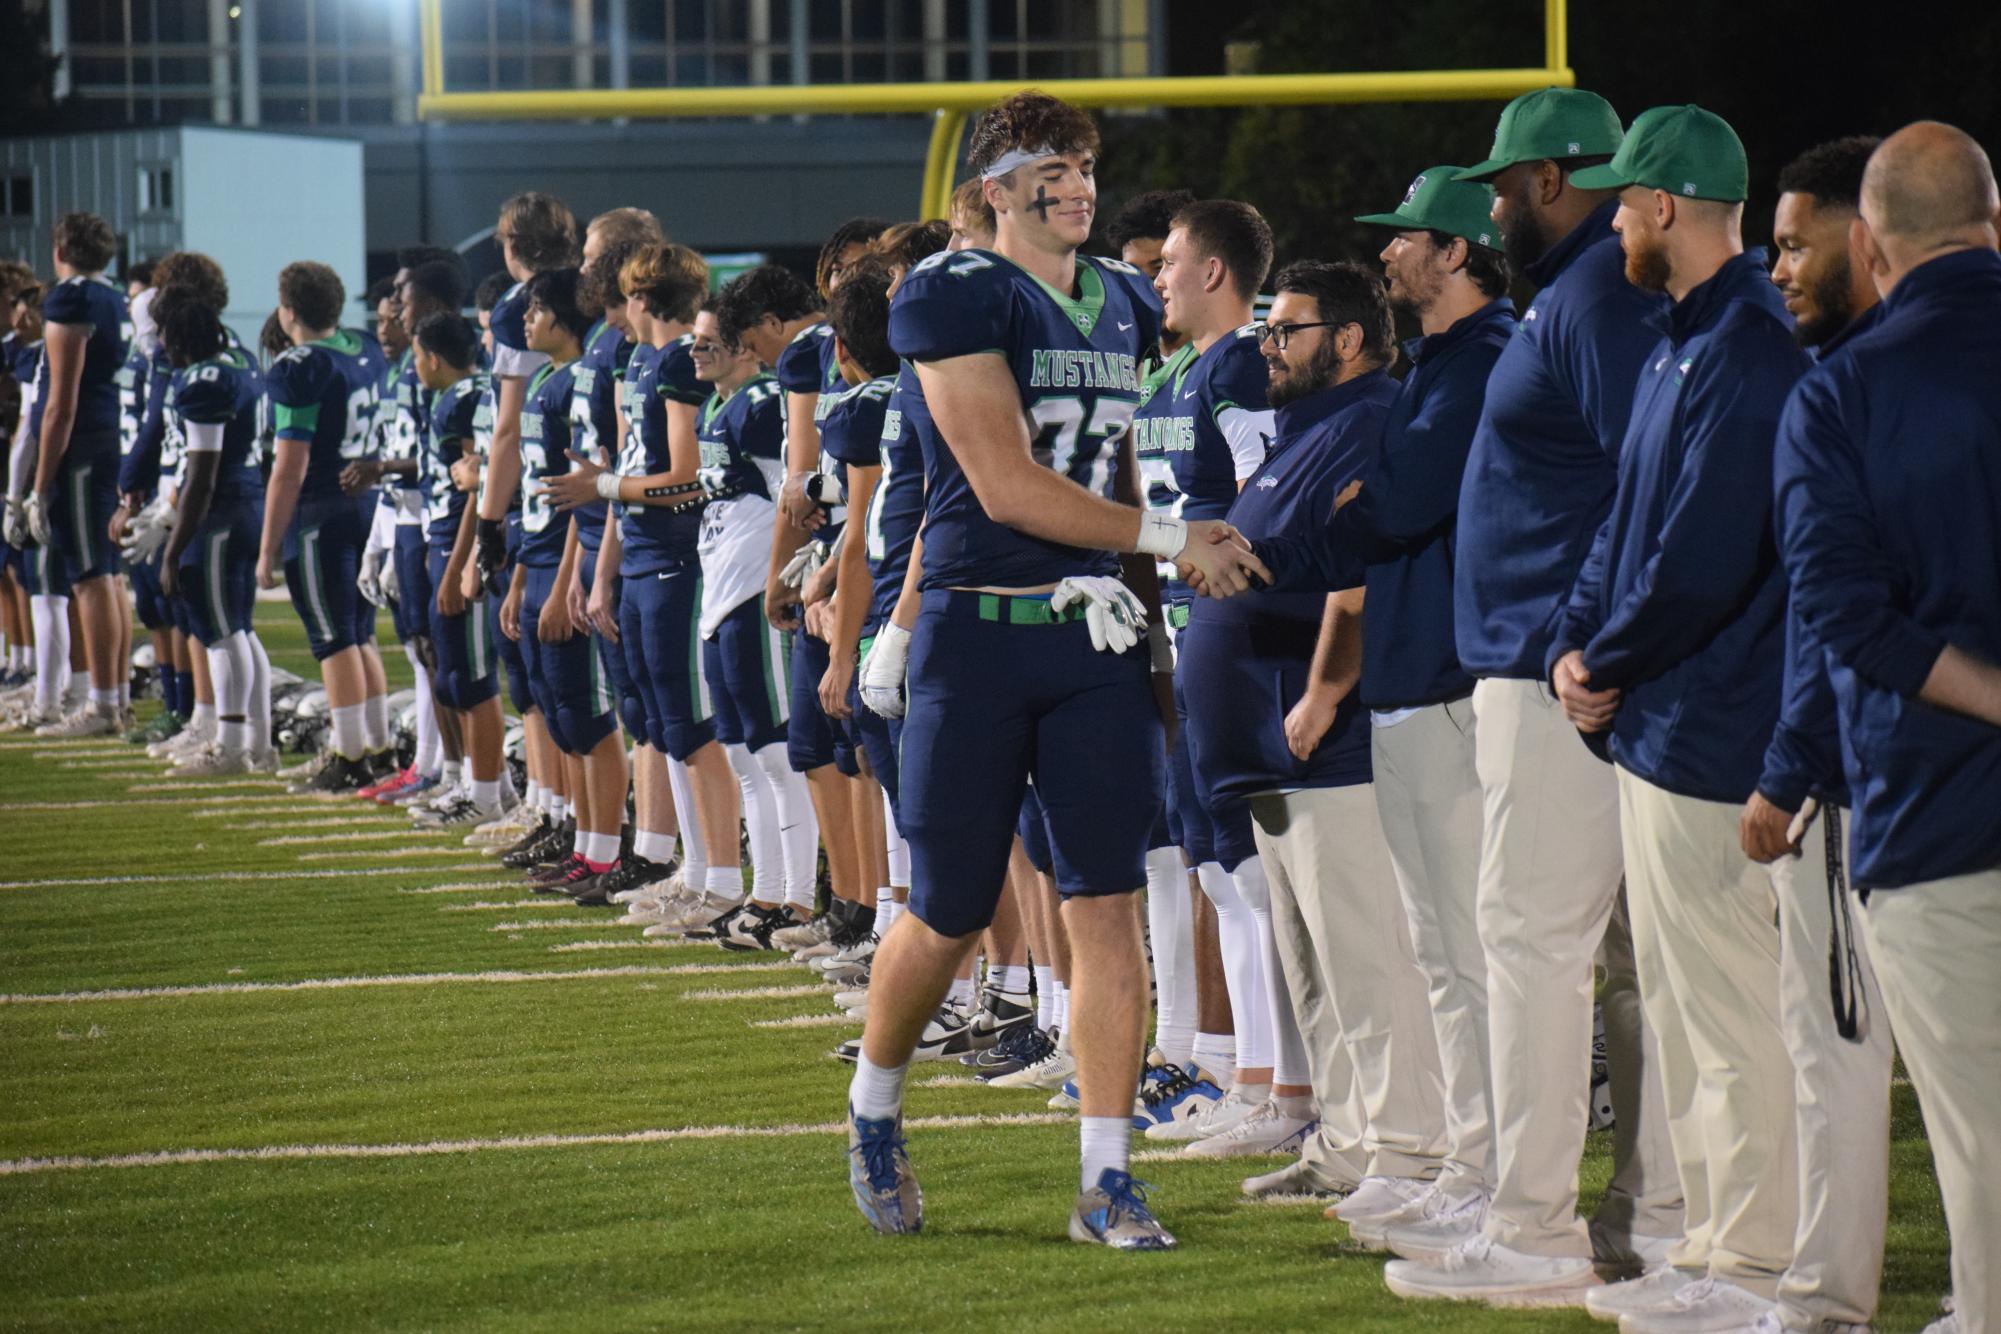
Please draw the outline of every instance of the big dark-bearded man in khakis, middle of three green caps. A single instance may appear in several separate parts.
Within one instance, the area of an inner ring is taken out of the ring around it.
[[[1605,98],[1545,88],[1509,102],[1489,160],[1459,172],[1493,182],[1503,250],[1541,288],[1487,380],[1453,568],[1483,798],[1477,924],[1495,1196],[1465,1248],[1435,1266],[1397,1266],[1389,1282],[1401,1296],[1575,1304],[1599,1282],[1595,1258],[1655,1262],[1681,1234],[1619,892],[1619,790],[1545,684],[1571,582],[1611,510],[1633,382],[1659,338],[1647,320],[1663,300],[1625,280],[1617,196],[1577,184],[1619,140]],[[1549,830],[1557,836],[1539,836]],[[1577,1162],[1601,944],[1619,1130],[1611,1188],[1587,1230]]]

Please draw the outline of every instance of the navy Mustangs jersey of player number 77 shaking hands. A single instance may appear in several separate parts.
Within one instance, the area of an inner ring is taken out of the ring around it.
[[[1077,256],[1077,294],[988,250],[916,264],[890,306],[890,344],[912,362],[974,352],[1007,358],[1035,432],[1035,460],[1085,490],[1111,494],[1119,448],[1141,392],[1141,352],[1161,334],[1161,306],[1131,264]],[[914,390],[922,398],[922,386]],[[924,588],[1035,588],[1071,574],[1117,574],[1113,552],[1031,538],[992,522],[934,418],[906,414],[924,448]]]

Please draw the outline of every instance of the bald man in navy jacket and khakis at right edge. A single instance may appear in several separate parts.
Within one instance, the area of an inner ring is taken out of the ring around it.
[[[1787,406],[1777,486],[1827,652],[1855,884],[1953,1234],[1957,1330],[2001,1330],[2001,256],[1987,154],[1935,122],[1869,158],[1877,326]]]

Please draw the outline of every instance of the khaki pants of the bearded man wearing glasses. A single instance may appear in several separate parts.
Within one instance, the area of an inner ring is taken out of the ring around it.
[[[1445,1158],[1439,1044],[1371,784],[1257,796],[1251,818],[1321,1116],[1329,1106],[1351,1114],[1359,1098],[1367,1174],[1435,1178]]]

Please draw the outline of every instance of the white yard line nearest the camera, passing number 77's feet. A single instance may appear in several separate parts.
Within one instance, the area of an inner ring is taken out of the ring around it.
[[[1073,1120],[1063,1112],[1019,1112],[1013,1116],[912,1116],[904,1130],[1000,1130],[1011,1126],[1055,1126]],[[480,1154],[520,1148],[594,1148],[610,1144],[672,1144],[674,1140],[788,1140],[796,1136],[846,1134],[846,1122],[788,1126],[678,1126],[666,1130],[622,1130],[606,1134],[520,1134],[496,1140],[424,1140],[416,1144],[268,1144],[264,1148],[166,1148],[148,1154],[108,1154],[102,1158],[6,1158],[0,1176],[32,1172],[80,1172],[88,1168],[172,1168],[196,1162],[272,1162],[300,1158],[426,1158],[436,1154]]]

